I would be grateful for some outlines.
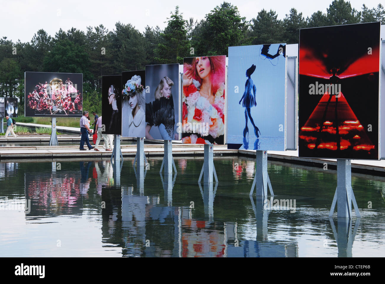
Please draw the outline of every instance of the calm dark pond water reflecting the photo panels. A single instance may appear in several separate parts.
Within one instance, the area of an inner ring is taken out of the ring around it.
[[[382,177],[353,174],[362,217],[330,221],[336,171],[269,161],[267,203],[249,197],[253,159],[214,157],[217,187],[199,187],[201,157],[176,157],[176,176],[161,162],[126,158],[120,177],[109,160],[0,163],[0,256],[385,255]]]

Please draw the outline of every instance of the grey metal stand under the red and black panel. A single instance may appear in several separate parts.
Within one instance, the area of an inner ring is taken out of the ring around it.
[[[361,217],[352,189],[352,162],[350,160],[337,159],[337,188],[331,203],[329,217],[333,216],[336,202],[337,218],[352,218],[352,202],[357,217]]]

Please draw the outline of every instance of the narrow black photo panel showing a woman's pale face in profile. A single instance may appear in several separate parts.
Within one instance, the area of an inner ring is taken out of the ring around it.
[[[104,133],[122,135],[122,75],[102,76]]]

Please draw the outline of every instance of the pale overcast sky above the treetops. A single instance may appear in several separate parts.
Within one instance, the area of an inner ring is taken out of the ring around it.
[[[294,7],[302,12],[304,17],[310,17],[313,12],[321,10],[326,12],[332,0],[317,1],[228,1],[236,5],[242,17],[246,20],[255,18],[259,11],[273,9],[278,13],[278,18],[283,19],[290,8]],[[75,27],[80,30],[87,26],[95,27],[103,24],[108,30],[114,29],[116,22],[131,23],[139,31],[143,32],[146,25],[160,28],[166,27],[166,18],[170,12],[179,5],[179,11],[185,19],[193,17],[198,21],[203,19],[216,5],[223,0],[195,0],[195,1],[171,1],[171,0],[69,0],[53,2],[49,0],[0,0],[2,10],[0,17],[0,37],[22,42],[30,41],[33,34],[40,28],[54,36],[55,32],[62,28],[64,31]],[[361,10],[364,0],[351,0],[353,8]],[[365,0],[369,8],[377,7],[380,0]]]

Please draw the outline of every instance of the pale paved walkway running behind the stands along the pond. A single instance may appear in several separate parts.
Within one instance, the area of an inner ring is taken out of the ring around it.
[[[44,136],[44,137],[42,137]],[[24,142],[24,141],[46,141],[49,140],[49,135],[36,135],[30,136],[18,136],[16,138],[5,139],[0,138],[0,141],[9,142]],[[60,146],[61,139],[74,141],[74,145]],[[95,150],[80,151],[79,145],[75,144],[75,141],[79,143],[80,137],[78,135],[62,135],[59,136],[59,146],[15,146],[15,147],[0,147],[0,160],[12,160],[12,159],[35,159],[47,158],[52,159],[56,157],[61,158],[73,158],[73,157],[110,157],[111,152],[105,151],[102,148],[102,143],[99,144],[99,152]],[[123,140],[136,140],[132,138],[123,138]],[[147,142],[147,140],[146,140]],[[148,141],[148,142],[151,142]],[[164,155],[164,147],[162,141],[152,140],[157,144],[145,144],[145,155]],[[91,142],[92,144],[92,142]],[[87,148],[86,148],[87,149]],[[121,145],[122,155],[124,157],[134,157],[136,154],[136,143],[134,145]],[[194,144],[181,144],[180,141],[174,142],[172,147],[172,153],[174,155],[203,155],[204,145]],[[255,150],[232,150],[227,149],[226,146],[215,145],[214,156],[218,155],[245,155],[248,157],[255,157]],[[336,166],[335,159],[308,159],[298,157],[297,151],[268,151],[268,158],[283,160],[288,163],[301,163],[312,164],[315,167],[323,168],[326,162],[328,166]],[[367,172],[373,171],[373,174],[385,175],[385,160],[372,161],[372,160],[352,160],[352,169],[365,170]]]

